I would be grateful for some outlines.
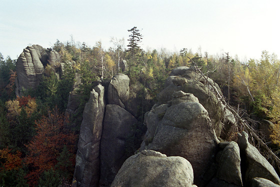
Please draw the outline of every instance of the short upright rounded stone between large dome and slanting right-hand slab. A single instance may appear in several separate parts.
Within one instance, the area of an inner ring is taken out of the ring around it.
[[[230,184],[242,186],[240,151],[238,144],[230,141],[219,158],[217,178]]]

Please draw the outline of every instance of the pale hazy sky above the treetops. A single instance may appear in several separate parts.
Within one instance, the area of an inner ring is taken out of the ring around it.
[[[29,44],[59,39],[85,42],[128,39],[137,26],[143,49],[280,57],[280,0],[0,0],[0,52],[12,59]],[[127,44],[127,42],[126,42]]]

